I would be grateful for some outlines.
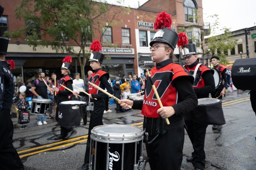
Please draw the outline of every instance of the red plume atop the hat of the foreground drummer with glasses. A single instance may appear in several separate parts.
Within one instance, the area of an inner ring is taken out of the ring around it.
[[[161,28],[169,28],[171,30],[171,15],[167,14],[165,11],[158,13],[156,21],[154,23],[155,30],[159,30]]]

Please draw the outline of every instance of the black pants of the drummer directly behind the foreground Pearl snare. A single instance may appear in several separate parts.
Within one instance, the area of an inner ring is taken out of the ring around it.
[[[89,124],[89,131],[88,131],[88,138],[85,150],[85,163],[89,163],[90,159],[90,144],[91,144],[91,130],[95,126],[103,125],[102,117],[105,109],[105,100],[104,98],[97,98],[97,100],[91,99],[94,102],[94,110],[90,113],[90,124]]]

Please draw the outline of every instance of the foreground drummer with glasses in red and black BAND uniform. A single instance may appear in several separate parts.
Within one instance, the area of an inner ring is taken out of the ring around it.
[[[142,109],[145,116],[143,129],[149,134],[146,150],[150,169],[180,170],[185,135],[183,114],[197,106],[197,97],[192,88],[193,77],[181,65],[173,63],[173,51],[179,37],[171,29],[171,15],[158,14],[154,27],[158,31],[150,42],[150,51],[156,67],[150,74],[164,107],[160,108],[149,77],[144,101],[121,101],[131,105],[132,109]],[[121,104],[125,109],[128,105]],[[163,118],[168,118],[170,124],[167,125]]]

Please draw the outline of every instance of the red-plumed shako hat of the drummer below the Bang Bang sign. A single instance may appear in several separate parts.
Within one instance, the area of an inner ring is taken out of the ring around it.
[[[99,52],[99,51],[102,51],[100,41],[95,40],[94,42],[92,42],[90,50],[92,50],[92,54],[88,61],[96,61],[96,62],[100,62],[102,64],[102,62],[105,58],[105,55]]]

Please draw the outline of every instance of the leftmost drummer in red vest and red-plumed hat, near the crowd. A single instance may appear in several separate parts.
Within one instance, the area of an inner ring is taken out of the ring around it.
[[[71,61],[72,58],[71,56],[66,56],[63,59],[63,64],[62,67],[60,68],[63,77],[59,80],[59,84],[66,86],[67,88],[71,89],[73,91],[73,80],[70,77],[70,70],[72,68],[71,65]],[[56,107],[56,117],[55,119],[58,121],[59,119],[59,103],[60,102],[64,102],[64,101],[68,101],[69,100],[69,95],[72,94],[72,92],[66,90],[64,87],[62,86],[58,86],[55,87],[54,89],[52,89],[54,91],[56,91],[56,103],[57,103],[57,107]],[[64,126],[60,126],[61,130],[60,130],[60,135],[57,135],[54,139],[55,140],[59,140],[59,139],[68,139],[73,133],[74,130],[72,127],[64,127]]]

